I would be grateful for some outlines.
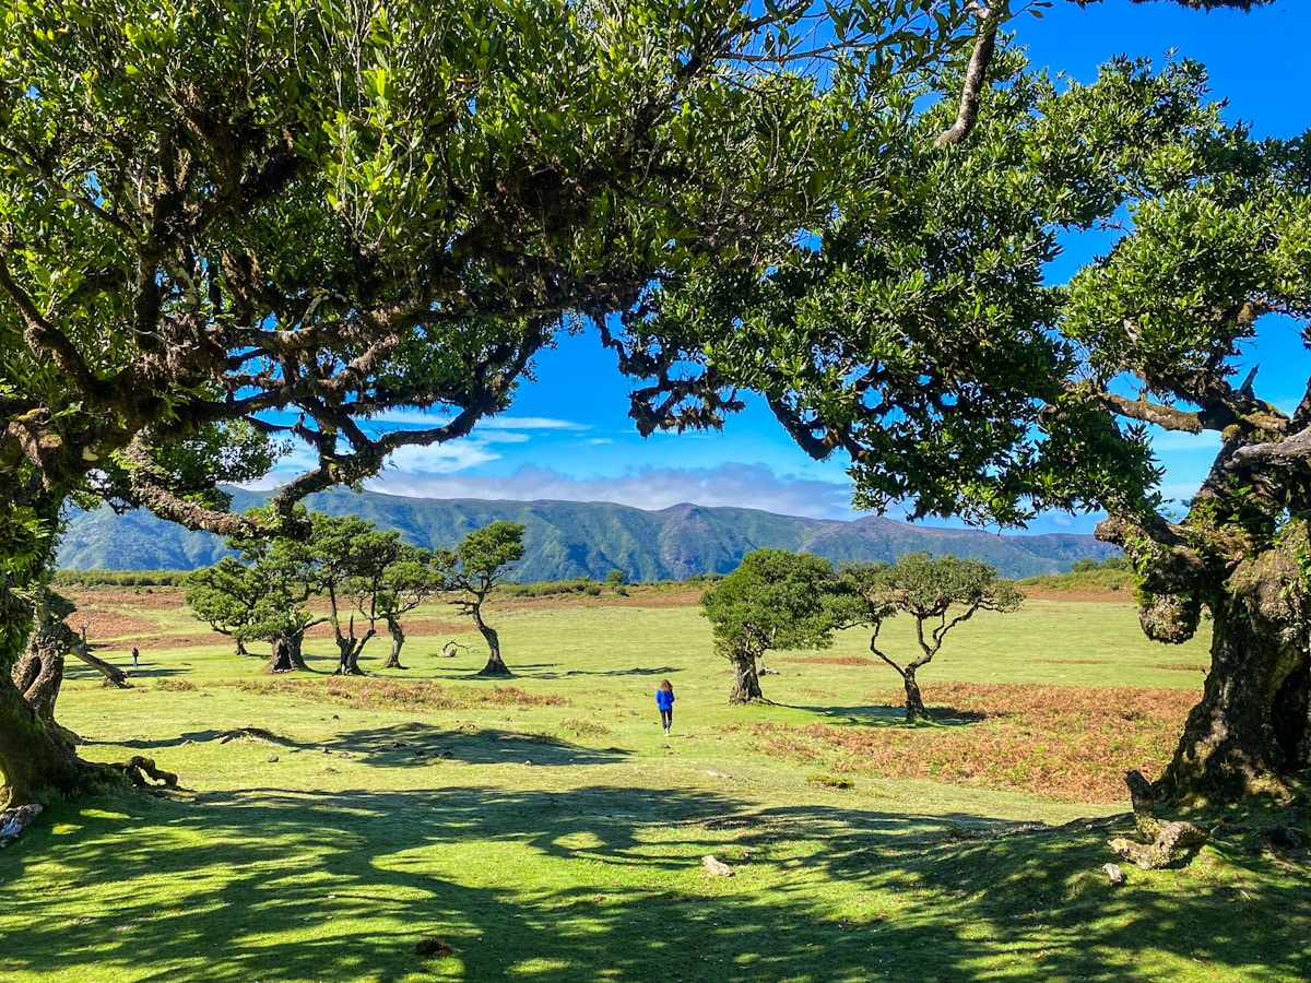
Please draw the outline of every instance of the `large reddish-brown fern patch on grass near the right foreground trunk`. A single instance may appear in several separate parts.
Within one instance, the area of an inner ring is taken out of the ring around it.
[[[730,725],[770,755],[885,779],[953,781],[1067,802],[1126,801],[1124,775],[1159,775],[1197,695],[1180,689],[939,683],[969,726]],[[899,691],[872,703],[898,705]],[[948,712],[929,709],[948,721]]]

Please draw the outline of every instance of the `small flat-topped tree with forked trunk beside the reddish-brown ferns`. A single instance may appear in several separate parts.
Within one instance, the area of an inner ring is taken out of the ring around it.
[[[847,579],[865,598],[864,624],[873,628],[869,650],[897,670],[906,687],[906,722],[932,720],[915,682],[915,672],[933,661],[947,633],[975,611],[1015,611],[1024,595],[1009,581],[999,581],[996,568],[978,560],[929,553],[906,553],[889,564],[852,564]],[[884,621],[902,611],[915,619],[920,654],[898,666],[878,647]],[[929,625],[926,633],[924,626]]]

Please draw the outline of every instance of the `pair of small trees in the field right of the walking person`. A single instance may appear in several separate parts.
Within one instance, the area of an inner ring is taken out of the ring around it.
[[[996,569],[954,556],[907,553],[895,564],[846,564],[839,571],[823,557],[758,549],[737,570],[701,595],[714,647],[733,665],[730,703],[763,699],[760,665],[772,649],[827,649],[842,628],[871,629],[869,650],[891,666],[906,689],[906,720],[924,708],[918,670],[943,647],[947,633],[979,611],[1015,611],[1024,595]],[[915,620],[919,654],[893,658],[880,633],[897,613]]]

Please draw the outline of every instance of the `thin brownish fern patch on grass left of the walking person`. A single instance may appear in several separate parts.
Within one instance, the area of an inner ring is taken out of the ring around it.
[[[404,682],[359,676],[328,679],[244,679],[224,683],[248,693],[277,693],[303,700],[340,703],[357,710],[431,709],[454,710],[476,706],[565,706],[568,700],[555,693],[539,696],[518,687],[442,685],[429,680]]]

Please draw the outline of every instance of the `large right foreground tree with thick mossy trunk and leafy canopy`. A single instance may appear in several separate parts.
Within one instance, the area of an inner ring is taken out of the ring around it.
[[[1214,617],[1163,784],[1278,784],[1311,756],[1311,385],[1281,410],[1239,360],[1270,317],[1311,317],[1307,143],[1226,125],[1184,60],[1065,90],[1011,52],[992,69],[969,139],[936,152],[950,107],[916,113],[912,84],[881,96],[903,111],[871,106],[846,203],[777,240],[760,277],[669,288],[635,343],[763,392],[812,455],[850,456],[868,507],[1106,510],[1097,535],[1134,564],[1145,630],[1184,641]],[[1071,229],[1113,246],[1047,283]],[[1163,510],[1148,426],[1218,436],[1183,515]]]

